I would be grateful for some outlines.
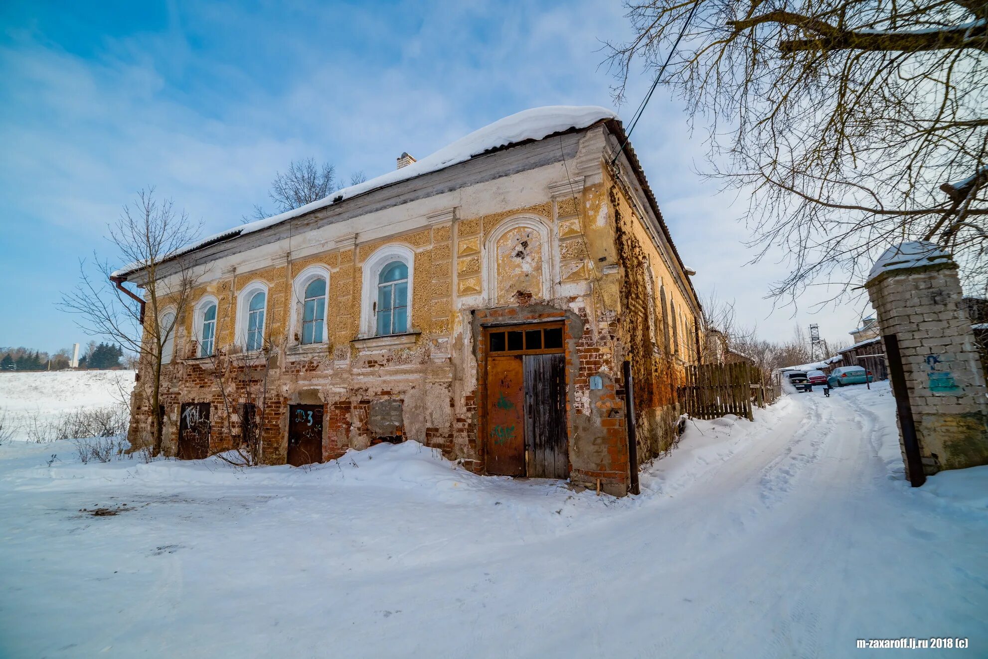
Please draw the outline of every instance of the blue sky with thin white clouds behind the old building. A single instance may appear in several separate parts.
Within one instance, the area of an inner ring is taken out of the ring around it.
[[[78,259],[112,256],[108,221],[141,187],[234,226],[292,159],[346,178],[425,156],[519,110],[614,108],[603,39],[617,2],[74,2],[0,4],[0,345],[55,350],[88,337],[55,308]],[[632,107],[650,80],[628,95]],[[717,194],[702,134],[660,88],[632,142],[700,295],[736,299],[770,338],[795,323],[847,337],[858,308],[773,313],[782,255],[754,266]],[[825,296],[824,291],[819,295]]]

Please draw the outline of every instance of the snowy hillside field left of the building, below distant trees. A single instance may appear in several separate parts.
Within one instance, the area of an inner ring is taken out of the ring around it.
[[[0,414],[25,438],[36,418],[52,424],[79,408],[123,402],[133,389],[133,371],[0,371]]]

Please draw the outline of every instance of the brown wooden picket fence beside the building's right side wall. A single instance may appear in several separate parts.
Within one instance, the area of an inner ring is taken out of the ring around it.
[[[695,364],[686,367],[686,380],[679,388],[684,411],[696,418],[736,414],[753,418],[752,407],[768,406],[779,398],[782,387],[747,362]]]

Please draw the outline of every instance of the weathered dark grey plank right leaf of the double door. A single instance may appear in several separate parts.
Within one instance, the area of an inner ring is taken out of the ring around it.
[[[569,476],[566,441],[566,357],[534,354],[525,363],[525,444],[528,476]]]

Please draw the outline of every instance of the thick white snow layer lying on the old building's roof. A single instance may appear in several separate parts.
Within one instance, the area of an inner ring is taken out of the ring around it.
[[[344,187],[318,201],[313,201],[288,212],[213,234],[204,240],[179,250],[169,257],[181,256],[212,243],[261,231],[291,218],[304,215],[313,210],[325,208],[334,203],[339,203],[344,199],[365,194],[379,187],[407,181],[408,179],[414,179],[424,174],[458,165],[488,151],[529,140],[539,140],[554,133],[573,128],[586,128],[602,119],[614,118],[617,118],[617,114],[614,111],[598,106],[546,106],[544,108],[523,110],[506,116],[503,119],[498,119],[494,123],[486,125],[479,130],[474,130],[472,133],[460,137],[452,144],[443,147],[431,156],[427,156],[399,170],[382,174],[364,183]],[[113,275],[123,276],[138,269],[140,269],[139,263],[131,263],[117,270]]]

